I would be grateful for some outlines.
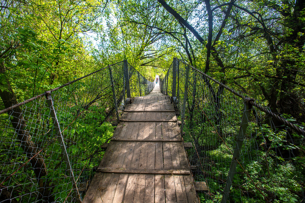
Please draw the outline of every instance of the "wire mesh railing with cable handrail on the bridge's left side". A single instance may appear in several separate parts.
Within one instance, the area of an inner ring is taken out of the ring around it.
[[[137,73],[120,61],[1,110],[0,202],[81,202]]]

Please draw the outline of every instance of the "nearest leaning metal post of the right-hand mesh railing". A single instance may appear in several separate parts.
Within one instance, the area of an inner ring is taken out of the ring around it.
[[[222,196],[221,203],[226,203],[228,200],[229,192],[230,192],[231,185],[233,182],[233,177],[235,175],[237,160],[239,158],[239,154],[240,154],[240,151],[242,148],[242,143],[244,142],[244,138],[246,135],[246,129],[248,127],[248,121],[249,121],[249,117],[250,117],[250,113],[251,113],[251,109],[252,109],[252,106],[249,105],[249,103],[248,103],[249,100],[251,100],[251,99],[246,98],[244,101],[245,106],[244,106],[244,112],[242,114],[242,121],[241,121],[239,132],[238,132],[238,135],[236,138],[236,145],[235,145],[235,149],[233,152],[233,158],[231,161],[231,166],[230,166],[228,177],[227,177],[227,182],[224,187],[224,194]]]

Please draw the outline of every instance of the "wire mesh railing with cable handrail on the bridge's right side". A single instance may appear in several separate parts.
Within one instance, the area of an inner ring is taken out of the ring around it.
[[[181,121],[203,202],[301,202],[303,127],[174,58],[160,80]],[[300,127],[301,126],[301,127]]]

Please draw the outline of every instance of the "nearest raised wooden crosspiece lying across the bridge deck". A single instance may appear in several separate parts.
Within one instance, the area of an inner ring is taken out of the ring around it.
[[[138,174],[185,174],[185,175],[191,173],[189,170],[137,170],[137,169],[116,169],[116,168],[98,168],[96,172],[138,173]]]

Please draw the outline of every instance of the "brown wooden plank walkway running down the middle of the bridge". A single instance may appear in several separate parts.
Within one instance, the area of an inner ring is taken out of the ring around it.
[[[174,107],[158,83],[125,108],[83,202],[198,202],[190,171]]]

